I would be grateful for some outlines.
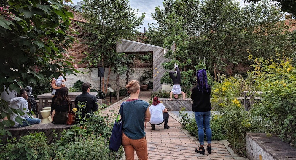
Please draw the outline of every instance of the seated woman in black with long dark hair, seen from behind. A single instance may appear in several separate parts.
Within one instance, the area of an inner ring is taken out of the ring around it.
[[[55,110],[55,115],[53,116],[54,124],[66,124],[67,115],[69,109],[72,109],[72,103],[68,96],[68,88],[61,87],[56,92],[55,101],[52,104],[52,108]]]

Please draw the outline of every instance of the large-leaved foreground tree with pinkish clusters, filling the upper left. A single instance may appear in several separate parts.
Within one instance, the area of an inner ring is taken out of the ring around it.
[[[71,29],[73,14],[57,0],[7,0],[0,7],[0,91],[6,88],[20,92],[31,81],[36,84],[52,74],[80,73],[72,65],[66,50],[74,41]],[[55,69],[59,72],[52,72]],[[0,118],[12,113],[6,103],[0,103]],[[21,119],[19,120],[20,124]],[[14,124],[5,120],[4,125]]]

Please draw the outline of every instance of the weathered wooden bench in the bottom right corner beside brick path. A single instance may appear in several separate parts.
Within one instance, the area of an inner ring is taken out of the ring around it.
[[[249,160],[295,160],[296,148],[274,135],[268,138],[265,133],[246,133],[246,155]]]

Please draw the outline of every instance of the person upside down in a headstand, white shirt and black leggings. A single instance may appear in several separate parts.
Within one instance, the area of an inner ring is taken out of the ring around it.
[[[174,98],[175,99],[178,99],[179,97],[179,94],[182,94],[183,95],[183,100],[186,100],[185,99],[185,93],[181,91],[181,72],[178,68],[178,66],[176,65],[175,63],[175,67],[176,71],[174,72],[169,72],[170,74],[170,77],[171,79],[173,80],[173,89],[172,91],[170,92],[170,99],[169,100],[172,100],[172,94],[174,94]],[[174,76],[174,73],[177,74],[177,77]]]

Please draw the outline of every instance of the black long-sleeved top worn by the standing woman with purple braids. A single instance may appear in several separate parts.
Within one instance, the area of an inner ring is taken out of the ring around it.
[[[203,86],[203,89],[200,85],[197,85],[192,89],[191,99],[193,100],[193,112],[208,112],[212,109],[210,102],[211,90],[212,88],[209,85],[207,87]]]

